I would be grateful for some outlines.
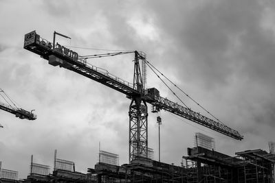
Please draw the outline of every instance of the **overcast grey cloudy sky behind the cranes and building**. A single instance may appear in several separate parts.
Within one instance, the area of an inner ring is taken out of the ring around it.
[[[57,157],[87,172],[98,162],[98,143],[129,157],[129,104],[125,95],[72,71],[47,64],[23,49],[23,38],[36,30],[52,41],[54,31],[70,36],[57,41],[79,55],[107,50],[144,51],[147,60],[243,141],[208,130],[162,111],[148,117],[148,146],[157,156],[156,117],[162,117],[161,154],[181,162],[195,132],[212,136],[217,151],[264,149],[275,141],[275,6],[269,0],[203,1],[12,1],[0,0],[0,88],[38,119],[21,120],[0,111],[2,168],[29,173],[34,162],[53,167]],[[104,49],[98,51],[96,49]],[[133,81],[133,55],[89,60]],[[180,103],[148,69],[147,88]],[[175,93],[197,112],[195,103]],[[273,93],[273,94],[272,94]]]

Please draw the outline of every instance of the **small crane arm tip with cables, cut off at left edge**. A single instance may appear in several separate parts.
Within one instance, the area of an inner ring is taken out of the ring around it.
[[[0,109],[5,110],[6,112],[10,112],[15,114],[15,117],[19,117],[20,119],[28,119],[34,120],[37,118],[36,114],[29,112],[27,110],[23,110],[23,108],[19,108],[15,103],[8,97],[8,95],[0,88],[0,96],[5,101],[5,103],[0,101]]]

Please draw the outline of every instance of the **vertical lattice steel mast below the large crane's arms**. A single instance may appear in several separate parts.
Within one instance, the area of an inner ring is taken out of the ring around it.
[[[140,97],[129,106],[129,163],[137,157],[148,158],[148,110]]]

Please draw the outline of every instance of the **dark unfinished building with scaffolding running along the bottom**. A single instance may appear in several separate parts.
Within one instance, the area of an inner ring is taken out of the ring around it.
[[[136,157],[130,164],[115,165],[118,156],[107,151],[108,162],[98,162],[87,173],[76,171],[74,162],[55,157],[54,171],[50,166],[31,162],[30,175],[17,180],[16,171],[1,169],[5,182],[186,182],[186,183],[274,183],[275,154],[262,149],[236,152],[236,156],[221,154],[204,147],[187,149],[181,166]]]

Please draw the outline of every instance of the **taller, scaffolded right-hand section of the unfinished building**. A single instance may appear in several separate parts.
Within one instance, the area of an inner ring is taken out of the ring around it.
[[[241,151],[236,157],[203,147],[188,148],[188,183],[273,183],[275,155],[261,149]]]

